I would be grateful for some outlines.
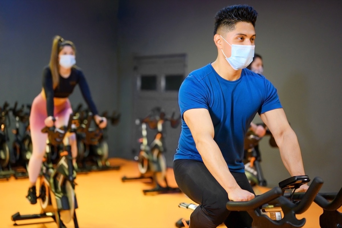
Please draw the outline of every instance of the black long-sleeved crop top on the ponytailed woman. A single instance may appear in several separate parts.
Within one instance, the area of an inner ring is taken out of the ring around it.
[[[43,70],[43,88],[47,101],[46,106],[48,116],[53,116],[53,98],[68,97],[71,93],[73,93],[74,88],[77,84],[79,85],[82,96],[84,100],[87,102],[88,107],[93,113],[93,115],[98,114],[96,106],[93,100],[91,99],[91,94],[86,78],[84,78],[83,72],[79,68],[71,68],[71,73],[68,78],[63,78],[62,76],[60,76],[60,83],[55,89],[53,89],[51,70],[50,67],[47,66]]]

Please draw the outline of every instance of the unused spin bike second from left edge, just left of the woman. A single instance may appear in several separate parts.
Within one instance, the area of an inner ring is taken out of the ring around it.
[[[15,169],[14,177],[28,177],[28,161],[32,154],[32,141],[28,122],[29,113],[24,113],[24,105],[17,110],[17,102],[10,109],[15,118],[15,129],[12,130],[14,140],[11,150],[11,163]],[[23,123],[25,132],[20,134],[20,122]]]

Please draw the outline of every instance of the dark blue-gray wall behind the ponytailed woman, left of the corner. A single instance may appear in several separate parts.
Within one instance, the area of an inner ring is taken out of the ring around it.
[[[42,69],[49,63],[52,38],[60,35],[75,43],[77,65],[83,70],[93,100],[101,113],[118,110],[117,80],[118,1],[0,1],[0,105],[31,103],[41,91]],[[70,96],[83,101],[77,86]],[[13,126],[13,125],[12,125]],[[109,126],[109,134],[117,127]],[[111,156],[115,140],[110,140]]]

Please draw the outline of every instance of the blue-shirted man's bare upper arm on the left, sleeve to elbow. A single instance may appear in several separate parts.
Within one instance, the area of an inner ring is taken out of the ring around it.
[[[214,126],[206,108],[193,108],[183,114],[184,121],[189,127],[195,142],[203,137],[214,138]]]

